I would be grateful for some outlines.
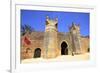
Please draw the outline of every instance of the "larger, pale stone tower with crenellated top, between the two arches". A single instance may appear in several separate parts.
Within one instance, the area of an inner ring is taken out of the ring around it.
[[[44,58],[54,58],[58,56],[57,42],[57,24],[58,19],[46,17],[45,35],[44,35]]]

